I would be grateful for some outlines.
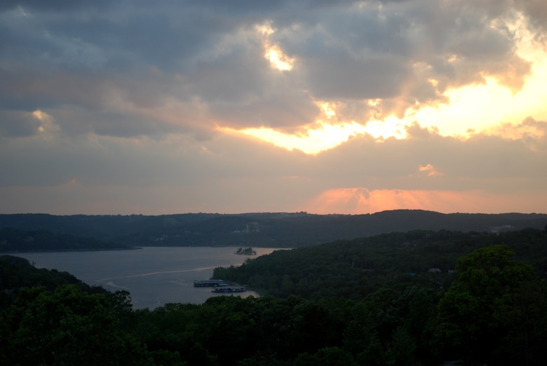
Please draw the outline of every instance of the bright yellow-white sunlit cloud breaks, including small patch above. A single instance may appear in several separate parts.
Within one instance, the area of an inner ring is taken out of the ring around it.
[[[517,17],[518,18],[518,17]],[[242,133],[264,140],[278,147],[292,150],[299,149],[306,154],[318,154],[320,151],[335,148],[351,136],[370,135],[379,142],[389,137],[405,139],[406,128],[417,123],[423,128],[435,128],[442,136],[468,138],[476,133],[489,131],[495,133],[495,126],[517,126],[528,116],[536,120],[547,120],[547,51],[538,47],[534,34],[525,27],[522,17],[509,24],[518,34],[519,57],[529,62],[532,68],[520,86],[513,86],[510,74],[485,76],[484,83],[471,83],[459,88],[449,88],[443,93],[446,102],[435,102],[431,105],[417,104],[405,111],[404,116],[389,115],[383,118],[344,119],[339,117],[338,109],[344,107],[343,100],[318,100],[320,114],[307,126],[300,126],[297,133],[286,133],[268,126],[231,129],[231,132]],[[271,66],[279,70],[291,70],[295,60],[286,56],[277,44],[271,44],[270,37],[276,32],[271,24],[257,26],[264,36],[266,59]],[[511,68],[507,72],[511,72]],[[435,79],[428,83],[437,85]],[[381,104],[381,99],[363,100],[370,108]],[[227,129],[228,130],[228,129]]]

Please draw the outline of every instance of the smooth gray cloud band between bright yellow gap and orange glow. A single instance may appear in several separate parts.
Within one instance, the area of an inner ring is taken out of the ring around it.
[[[529,118],[518,126],[529,127],[545,133],[547,123]],[[547,178],[545,135],[528,133],[526,139],[509,140],[482,134],[459,140],[417,124],[407,132],[407,140],[354,137],[318,156],[220,135],[202,144],[189,137],[168,142],[29,137],[3,144],[0,165],[8,168],[0,184],[33,186],[76,179],[90,185],[184,187],[226,179],[293,177],[306,182],[309,191],[336,187],[461,190],[485,189],[504,179],[525,187]],[[419,168],[428,164],[440,175],[420,173]]]

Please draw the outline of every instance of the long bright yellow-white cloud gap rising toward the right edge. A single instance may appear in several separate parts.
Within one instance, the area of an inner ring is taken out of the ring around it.
[[[520,123],[529,114],[547,119],[544,102],[547,100],[547,88],[544,87],[547,85],[547,52],[539,53],[536,50],[533,62],[534,74],[515,94],[494,79],[487,78],[485,84],[448,90],[445,93],[449,100],[447,104],[409,109],[405,118],[388,116],[383,121],[339,121],[337,125],[318,120],[319,128],[309,128],[306,134],[298,135],[288,135],[271,128],[252,128],[242,132],[278,147],[300,149],[306,154],[337,147],[353,135],[367,134],[377,140],[389,137],[404,139],[405,127],[414,122],[425,128],[436,128],[443,136],[469,137],[473,133],[486,131],[495,133],[497,129],[494,126],[510,121]],[[374,106],[379,102],[373,100],[369,103]],[[322,116],[327,120],[336,116],[335,109],[330,105],[328,102],[320,104]]]

